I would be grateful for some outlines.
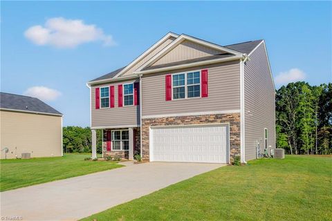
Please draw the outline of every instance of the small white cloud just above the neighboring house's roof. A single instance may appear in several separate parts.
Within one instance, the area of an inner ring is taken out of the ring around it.
[[[24,95],[30,97],[37,97],[39,99],[42,99],[43,101],[53,101],[57,99],[57,97],[59,97],[61,93],[52,88],[46,88],[44,86],[34,86],[28,88],[28,90],[24,92]]]

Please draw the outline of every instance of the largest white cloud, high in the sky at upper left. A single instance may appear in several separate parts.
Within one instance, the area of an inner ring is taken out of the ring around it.
[[[55,46],[57,48],[75,48],[92,41],[102,41],[104,46],[114,46],[111,35],[105,35],[101,28],[87,25],[82,20],[64,19],[62,17],[48,19],[44,26],[31,26],[24,36],[39,46]]]

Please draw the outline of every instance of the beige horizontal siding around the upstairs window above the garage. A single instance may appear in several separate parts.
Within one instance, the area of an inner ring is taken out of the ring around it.
[[[165,101],[165,75],[208,68],[208,97]],[[142,116],[229,111],[240,108],[239,61],[143,75]]]

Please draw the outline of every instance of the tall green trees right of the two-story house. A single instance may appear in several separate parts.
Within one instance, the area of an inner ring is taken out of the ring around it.
[[[276,91],[277,148],[291,154],[332,153],[332,84],[290,83]]]

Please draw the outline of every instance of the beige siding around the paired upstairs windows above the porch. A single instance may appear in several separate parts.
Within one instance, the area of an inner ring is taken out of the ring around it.
[[[91,86],[91,127],[102,126],[105,128],[112,128],[112,126],[131,126],[140,124],[139,105],[118,107],[118,85],[133,82],[139,82],[139,80],[132,79],[128,81],[118,81],[112,84]],[[102,88],[104,86],[114,86],[114,108],[95,109],[95,88]]]

